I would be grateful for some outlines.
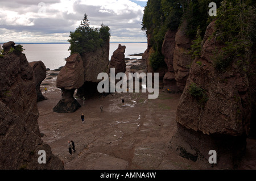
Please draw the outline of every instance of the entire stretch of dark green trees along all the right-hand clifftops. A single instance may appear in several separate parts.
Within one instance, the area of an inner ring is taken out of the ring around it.
[[[225,69],[233,56],[241,61],[249,56],[248,50],[255,45],[256,21],[255,1],[253,0],[215,0],[217,18],[209,16],[209,3],[212,0],[148,0],[142,19],[142,30],[151,35],[150,43],[156,52],[152,64],[163,65],[162,43],[167,30],[177,30],[187,22],[186,35],[193,40],[192,57],[200,56],[201,41],[207,26],[216,21],[216,37],[226,46],[216,54],[216,68]],[[158,57],[157,57],[158,56]],[[158,61],[156,61],[158,59]]]

